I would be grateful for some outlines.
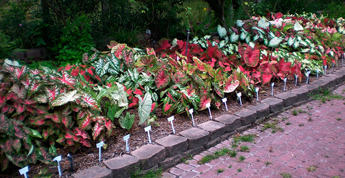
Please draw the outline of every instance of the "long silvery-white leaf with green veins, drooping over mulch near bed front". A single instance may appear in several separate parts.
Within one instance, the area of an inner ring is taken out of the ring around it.
[[[149,92],[145,93],[143,99],[141,99],[140,95],[136,95],[139,99],[139,107],[138,107],[138,114],[139,114],[139,125],[144,123],[150,116],[151,106],[152,106],[152,99],[151,94]]]

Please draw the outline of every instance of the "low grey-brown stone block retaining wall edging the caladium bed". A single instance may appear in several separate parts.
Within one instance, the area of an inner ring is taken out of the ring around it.
[[[142,173],[149,170],[167,169],[181,161],[183,157],[196,154],[211,147],[235,132],[242,131],[265,117],[277,115],[280,111],[296,107],[311,100],[309,93],[322,89],[334,89],[345,81],[345,67],[324,76],[300,89],[277,94],[243,109],[234,115],[222,115],[213,120],[201,123],[194,128],[184,130],[156,140],[155,144],[144,145],[125,154],[104,161],[106,168],[93,166],[73,175],[74,178],[128,178],[139,168]]]

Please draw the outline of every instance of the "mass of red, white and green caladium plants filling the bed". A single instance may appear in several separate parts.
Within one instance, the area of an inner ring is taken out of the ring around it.
[[[285,77],[302,81],[307,70],[321,74],[323,65],[331,68],[342,57],[344,23],[276,13],[239,20],[230,29],[218,26],[217,38],[194,38],[188,47],[177,39],[162,39],[155,50],[111,41],[107,51],[92,48],[80,63],[59,69],[2,59],[1,169],[9,162],[52,163],[57,148],[91,147],[116,126],[132,133],[152,124],[158,107],[164,115],[189,116],[189,109],[198,112],[207,103],[219,108],[234,91],[252,97],[254,86]],[[281,130],[273,123],[265,128]],[[235,145],[253,136],[236,139]]]

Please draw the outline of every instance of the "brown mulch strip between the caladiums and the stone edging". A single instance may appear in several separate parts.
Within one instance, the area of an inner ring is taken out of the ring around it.
[[[340,69],[341,67],[334,68],[334,71]],[[330,71],[327,71],[330,72]],[[319,75],[319,77],[322,77],[322,75]],[[302,82],[298,82],[297,86],[295,86],[295,80],[287,80],[286,82],[286,91],[290,91],[292,89],[299,88],[303,85],[306,85],[306,80],[303,79]],[[316,80],[315,76],[310,77],[310,83]],[[212,118],[217,118],[224,114],[234,114],[237,111],[242,110],[243,108],[247,108],[251,105],[255,105],[257,102],[260,102],[261,100],[271,97],[271,85],[266,86],[257,86],[260,87],[259,89],[259,100],[256,101],[256,96],[253,98],[249,97],[243,97],[242,98],[242,106],[239,104],[239,101],[236,97],[236,93],[230,93],[227,98],[227,106],[228,111],[226,111],[225,106],[221,105],[218,109],[211,109]],[[284,92],[284,82],[282,80],[275,80],[275,86],[274,86],[274,95]],[[169,116],[163,115],[160,108],[157,108],[155,115],[157,116],[157,120],[155,123],[151,125],[151,131],[150,136],[152,140],[152,144],[155,144],[154,141],[158,140],[160,138],[166,137],[169,134],[173,134],[171,123],[167,121],[167,118]],[[175,119],[173,120],[175,133],[178,133],[180,131],[189,129],[193,127],[192,120],[187,116],[187,114],[181,113],[178,115],[174,115]],[[195,125],[198,125],[200,123],[206,122],[210,120],[208,110],[199,111],[198,113],[194,112],[194,121]],[[138,123],[135,123],[134,125],[138,125]],[[148,144],[148,138],[147,133],[144,131],[144,127],[146,127],[145,124],[142,124],[140,126],[134,126],[133,133],[131,134],[131,137],[129,139],[129,148],[130,151],[126,152],[125,148],[125,142],[123,141],[123,137],[128,134],[128,131],[125,129],[115,129],[115,136],[108,137],[106,140],[104,140],[104,143],[107,144],[106,149],[102,149],[102,160],[111,159],[113,157],[120,156],[121,154],[130,154],[131,151],[140,148],[141,146]],[[96,148],[96,142],[92,142],[91,148],[82,147],[77,152],[73,153],[73,170],[74,173],[79,172],[81,170],[84,170],[86,168],[99,165],[103,166],[104,164],[99,162],[99,150]],[[63,172],[62,178],[69,178],[71,177],[70,173],[70,162],[67,159],[68,149],[66,148],[60,148],[58,149],[58,154],[63,156],[63,160],[60,162],[61,165],[61,171]],[[30,171],[29,171],[29,177],[34,177],[35,174],[39,172],[39,170],[43,168],[48,168],[48,172],[52,173],[52,178],[58,178],[58,170],[56,166],[53,165],[46,165],[46,164],[36,164],[36,165],[29,165]],[[0,178],[20,178],[18,171],[20,168],[9,165],[7,170],[5,172],[2,172],[0,175]]]

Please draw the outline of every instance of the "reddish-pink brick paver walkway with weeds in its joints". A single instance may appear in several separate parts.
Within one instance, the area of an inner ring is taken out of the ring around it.
[[[345,96],[344,89],[345,85],[334,92]],[[240,145],[248,146],[249,152],[238,152],[235,158],[222,156],[203,165],[197,163],[220,148],[231,148],[233,139],[229,138],[194,155],[188,164],[180,163],[167,170],[163,177],[282,178],[281,173],[285,173],[286,178],[345,178],[344,101],[311,101],[296,108],[302,111],[297,116],[288,110],[276,117],[280,120],[276,127],[281,127],[282,132],[260,131],[263,125],[259,125],[243,133],[258,136],[255,143]],[[245,157],[243,161],[239,161],[241,155]],[[218,169],[223,172],[218,173]]]

